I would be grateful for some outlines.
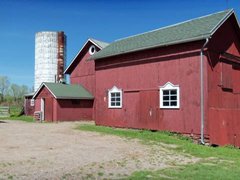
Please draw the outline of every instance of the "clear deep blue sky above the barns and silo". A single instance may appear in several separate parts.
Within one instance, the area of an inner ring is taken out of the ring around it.
[[[0,0],[0,76],[34,85],[35,33],[64,31],[67,66],[88,38],[127,36],[233,8],[240,0]]]

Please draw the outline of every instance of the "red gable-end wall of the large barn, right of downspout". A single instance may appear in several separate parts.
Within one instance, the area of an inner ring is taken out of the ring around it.
[[[240,56],[239,30],[233,20],[230,17],[222,25],[209,46],[208,119],[211,144],[240,147],[240,66],[220,58],[223,52]]]

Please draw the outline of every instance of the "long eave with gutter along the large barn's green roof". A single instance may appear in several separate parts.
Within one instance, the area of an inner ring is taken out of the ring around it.
[[[99,58],[90,57],[89,60],[99,60],[99,59],[103,59],[103,58],[109,58],[109,57],[113,57],[113,56],[138,52],[138,51],[142,51],[142,50],[148,50],[148,49],[159,48],[159,47],[164,47],[164,46],[171,46],[171,45],[183,44],[183,43],[188,43],[188,42],[193,42],[193,41],[199,41],[199,40],[203,40],[203,39],[206,39],[206,38],[209,38],[209,37],[211,37],[211,35],[207,34],[207,35],[202,35],[200,37],[194,37],[194,38],[180,40],[180,41],[172,41],[172,42],[165,43],[165,44],[158,44],[158,45],[155,45],[155,46],[138,48],[138,49],[134,49],[134,50],[131,50],[131,51],[126,51],[126,52],[123,52],[123,53],[117,53],[117,54],[108,55],[108,56],[99,57]]]

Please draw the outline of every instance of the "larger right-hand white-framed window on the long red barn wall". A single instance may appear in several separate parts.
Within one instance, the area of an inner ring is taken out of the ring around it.
[[[180,108],[179,86],[167,82],[160,86],[160,108],[177,109]]]

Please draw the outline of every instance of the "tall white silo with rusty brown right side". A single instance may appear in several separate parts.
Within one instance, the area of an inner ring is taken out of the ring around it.
[[[65,52],[64,32],[36,33],[34,91],[42,82],[57,82],[64,78]]]

